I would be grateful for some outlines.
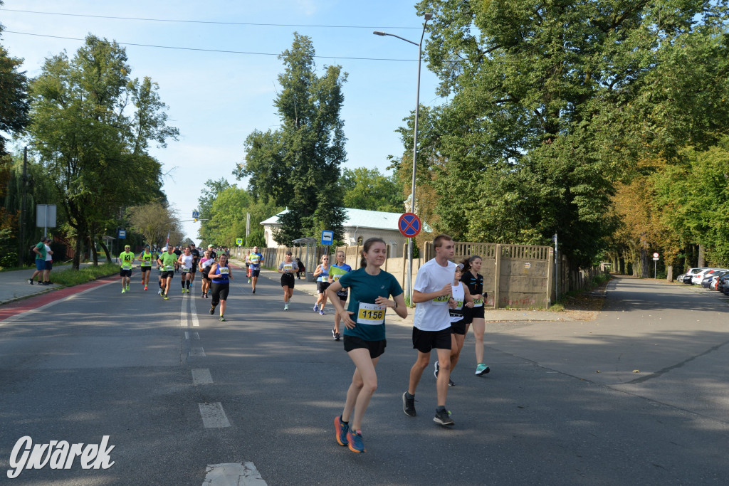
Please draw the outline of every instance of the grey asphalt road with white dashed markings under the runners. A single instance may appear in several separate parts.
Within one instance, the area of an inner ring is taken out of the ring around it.
[[[619,278],[595,321],[488,324],[492,372],[473,375],[469,334],[454,428],[432,422],[429,371],[418,416],[403,414],[415,352],[392,319],[358,455],[332,426],[354,367],[312,297],[284,311],[277,281],[253,295],[239,280],[222,323],[173,289],[163,301],[113,281],[0,322],[0,482],[225,484],[208,466],[251,463],[268,485],[729,483],[729,307],[715,292]],[[109,436],[114,466],[8,479],[23,436]]]

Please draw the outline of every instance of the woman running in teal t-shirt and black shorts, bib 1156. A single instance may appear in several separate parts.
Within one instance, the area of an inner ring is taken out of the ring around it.
[[[377,389],[375,366],[385,352],[386,307],[392,307],[402,318],[408,317],[402,287],[393,275],[380,268],[386,258],[384,240],[369,238],[362,247],[360,268],[342,275],[327,289],[330,301],[345,326],[344,350],[356,367],[342,415],[334,419],[337,442],[347,445],[353,452],[364,452],[360,427],[367,405]],[[346,288],[351,290],[348,309],[337,297],[337,292]],[[390,296],[394,300],[390,300]]]

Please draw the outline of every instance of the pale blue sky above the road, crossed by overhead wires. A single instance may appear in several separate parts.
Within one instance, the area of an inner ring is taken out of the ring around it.
[[[230,23],[296,24],[292,26],[242,26],[206,23],[152,22],[109,18],[42,15],[12,12],[58,12],[78,15],[143,17]],[[343,167],[367,166],[385,172],[386,157],[403,152],[394,130],[415,108],[418,49],[394,37],[374,36],[373,30],[418,42],[422,18],[410,1],[369,2],[335,0],[275,1],[23,1],[5,0],[0,7],[5,31],[0,44],[10,55],[25,60],[28,76],[39,74],[45,58],[66,50],[73,56],[80,40],[13,34],[17,31],[45,36],[83,39],[86,34],[122,44],[154,44],[210,50],[280,54],[291,46],[294,31],[310,36],[319,72],[339,64],[348,73],[344,85],[342,117],[348,138],[348,161]],[[305,25],[305,26],[302,26]],[[308,26],[348,26],[343,28]],[[362,26],[363,28],[354,28]],[[427,39],[427,34],[426,34]],[[243,141],[254,129],[279,125],[273,98],[282,71],[276,55],[233,54],[171,50],[125,45],[131,76],[149,76],[160,85],[160,96],[169,106],[171,125],[180,130],[179,141],[152,154],[168,173],[164,191],[190,219],[207,179],[225,177],[246,187],[231,174],[243,161]],[[345,58],[389,58],[354,60]],[[424,63],[421,104],[441,103],[435,94],[437,79]],[[198,242],[198,224],[185,223],[187,236]]]

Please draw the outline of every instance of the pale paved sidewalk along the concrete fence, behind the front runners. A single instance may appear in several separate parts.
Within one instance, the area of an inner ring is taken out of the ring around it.
[[[246,264],[240,260],[230,259],[230,262],[240,267],[245,267]],[[268,278],[273,281],[281,281],[281,274],[273,270],[261,269],[259,278]],[[295,280],[294,284],[294,298],[299,293],[308,294],[314,297],[311,300],[311,305],[316,302],[316,282],[307,282],[303,278]],[[283,297],[281,297],[283,299]],[[327,309],[333,311],[333,307],[327,302]],[[389,317],[388,324],[407,324],[408,326],[413,325],[413,313],[415,309],[408,309],[408,317],[401,319],[399,315],[394,313],[394,310],[388,309],[387,315]],[[486,309],[484,318],[488,322],[514,322],[514,321],[574,321],[569,318],[565,313],[549,312],[547,310],[523,310],[523,309]]]

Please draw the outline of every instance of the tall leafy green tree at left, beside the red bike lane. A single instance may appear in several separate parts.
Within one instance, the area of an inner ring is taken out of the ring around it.
[[[74,58],[47,58],[31,85],[30,132],[76,233],[74,267],[82,244],[119,224],[124,208],[163,197],[147,148],[177,130],[166,125],[157,85],[130,79],[127,60],[116,42],[89,35]]]

